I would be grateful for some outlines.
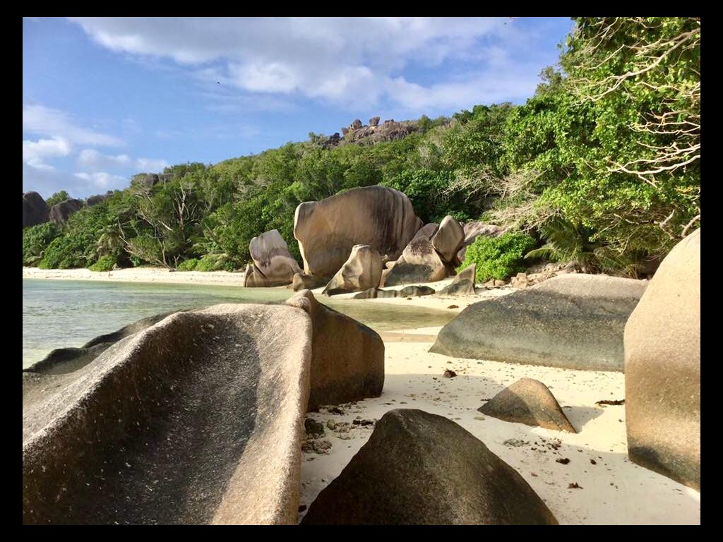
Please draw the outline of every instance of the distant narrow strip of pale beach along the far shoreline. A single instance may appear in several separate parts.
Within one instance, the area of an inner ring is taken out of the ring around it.
[[[200,284],[214,286],[244,285],[244,273],[228,271],[171,271],[165,267],[130,267],[116,271],[87,269],[38,269],[23,267],[22,278],[53,278],[60,280],[115,280],[124,283]]]

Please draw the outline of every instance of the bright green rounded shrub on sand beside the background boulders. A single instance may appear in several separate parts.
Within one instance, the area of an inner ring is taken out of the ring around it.
[[[500,237],[479,236],[467,247],[464,262],[458,271],[477,264],[477,280],[506,280],[524,270],[523,258],[534,246],[534,238],[526,233],[505,233]]]

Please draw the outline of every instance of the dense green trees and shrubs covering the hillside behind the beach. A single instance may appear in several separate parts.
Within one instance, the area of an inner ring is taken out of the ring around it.
[[[531,257],[635,276],[700,225],[700,34],[691,17],[576,18],[559,68],[544,70],[523,106],[425,116],[413,134],[377,145],[327,149],[309,134],[259,155],[174,165],[167,184],[132,182],[62,231],[27,228],[23,264],[241,269],[251,238],[273,228],[300,260],[300,202],[382,184],[425,222],[505,225],[542,245]]]

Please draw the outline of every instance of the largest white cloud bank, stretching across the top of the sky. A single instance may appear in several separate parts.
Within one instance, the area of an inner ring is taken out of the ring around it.
[[[457,109],[490,96],[526,98],[540,69],[557,56],[537,51],[540,36],[505,25],[509,17],[72,20],[112,51],[188,66],[207,92],[226,102],[231,87],[364,108],[388,100],[406,110]],[[458,61],[466,80],[448,73]],[[420,66],[440,67],[440,79],[415,80],[410,69],[419,73]]]

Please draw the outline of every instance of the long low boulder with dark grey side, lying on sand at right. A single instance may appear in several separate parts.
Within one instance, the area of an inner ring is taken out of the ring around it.
[[[480,301],[442,327],[429,350],[590,371],[623,371],[623,330],[647,281],[562,275]]]

